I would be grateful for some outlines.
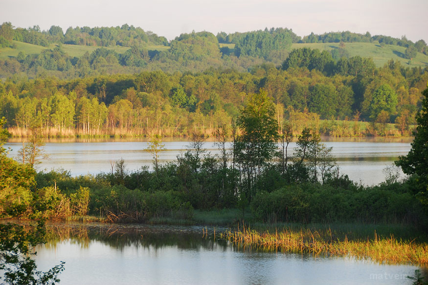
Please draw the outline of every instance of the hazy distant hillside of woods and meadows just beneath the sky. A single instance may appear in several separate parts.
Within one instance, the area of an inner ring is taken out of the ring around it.
[[[371,36],[369,32],[312,33],[302,38],[292,29],[266,28],[245,33],[220,32],[217,36],[207,31],[192,32],[167,41],[165,37],[128,24],[69,27],[64,33],[54,25],[41,31],[37,25],[15,28],[6,22],[0,25],[0,55],[1,51],[9,54],[4,48],[13,51],[20,46],[21,49],[9,56],[0,56],[0,76],[23,73],[33,78],[51,75],[65,79],[158,70],[168,73],[202,72],[209,68],[248,71],[263,63],[281,65],[291,53],[292,45],[299,43],[302,47],[332,43],[329,53],[335,61],[352,57],[347,44],[370,43],[376,50],[367,57],[394,57],[411,66],[418,57],[417,66],[427,64],[428,48],[424,40],[413,43],[405,36],[397,39]],[[385,45],[399,48],[381,55],[387,50]]]

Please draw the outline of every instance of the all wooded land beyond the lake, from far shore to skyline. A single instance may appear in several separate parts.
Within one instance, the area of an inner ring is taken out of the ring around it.
[[[271,28],[172,41],[139,27],[15,28],[2,47],[46,47],[0,59],[0,118],[13,136],[191,136],[236,120],[247,95],[273,99],[278,121],[329,136],[409,136],[421,108],[423,40],[346,32],[297,36]],[[331,50],[293,44],[337,44]],[[382,66],[346,45],[405,48]],[[81,47],[91,49],[73,49]],[[9,48],[9,49],[10,49]],[[124,48],[124,49],[123,49]],[[0,50],[5,50],[0,49]],[[68,52],[66,52],[68,50]],[[425,55],[424,55],[425,56]],[[228,130],[230,136],[230,130]]]

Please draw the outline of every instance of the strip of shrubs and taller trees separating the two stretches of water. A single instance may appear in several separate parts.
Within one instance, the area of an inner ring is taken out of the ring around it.
[[[194,133],[177,160],[160,164],[161,137],[152,136],[146,151],[153,155],[153,170],[129,171],[126,161],[119,160],[111,172],[96,175],[73,177],[64,169],[36,172],[40,145],[24,144],[19,153],[33,160],[21,163],[1,148],[1,210],[36,203],[45,209],[37,215],[50,219],[90,214],[111,222],[191,222],[195,210],[240,209],[242,215],[247,211],[254,221],[267,223],[402,223],[425,229],[427,97],[428,88],[412,150],[396,162],[409,175],[405,180],[390,168],[380,185],[351,181],[340,173],[332,148],[310,128],[295,138],[290,155],[292,125],[284,121],[281,126],[273,99],[261,90],[247,96],[232,124],[230,148],[224,124],[212,134],[218,155],[203,149],[205,137]],[[6,129],[1,134],[4,143],[9,134]]]

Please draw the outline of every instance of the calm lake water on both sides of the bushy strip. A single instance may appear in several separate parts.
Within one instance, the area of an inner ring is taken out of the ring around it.
[[[341,172],[364,184],[383,181],[383,168],[410,149],[411,140],[324,138],[333,147]],[[190,142],[165,140],[162,163],[173,161]],[[7,143],[16,157],[22,141]],[[207,151],[218,153],[213,142]],[[291,143],[293,149],[295,142]],[[151,166],[143,139],[47,140],[50,159],[39,169],[69,169],[72,175],[111,171],[111,162],[123,158],[130,170]],[[225,230],[217,228],[217,233]],[[48,242],[36,248],[39,270],[65,261],[61,285],[164,284],[412,284],[419,267],[388,265],[352,257],[312,256],[242,248],[203,235],[200,226],[49,223]],[[424,275],[427,275],[423,269]]]

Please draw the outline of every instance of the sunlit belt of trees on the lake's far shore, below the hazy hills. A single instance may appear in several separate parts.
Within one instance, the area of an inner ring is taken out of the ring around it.
[[[16,136],[35,128],[44,136],[210,135],[236,120],[247,95],[262,89],[276,119],[289,120],[295,134],[311,127],[327,135],[409,135],[427,79],[426,70],[392,60],[382,68],[359,56],[335,63],[326,52],[303,48],[279,68],[263,64],[250,72],[143,71],[71,80],[15,75],[0,82],[0,116]],[[361,129],[360,121],[371,123]],[[388,123],[395,123],[395,133]]]

